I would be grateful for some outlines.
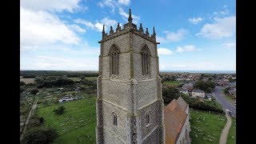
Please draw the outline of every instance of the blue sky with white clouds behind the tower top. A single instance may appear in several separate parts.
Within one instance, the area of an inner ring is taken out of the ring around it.
[[[20,70],[98,70],[102,26],[157,35],[160,70],[236,70],[234,0],[22,0]]]

